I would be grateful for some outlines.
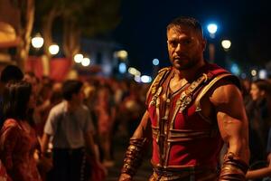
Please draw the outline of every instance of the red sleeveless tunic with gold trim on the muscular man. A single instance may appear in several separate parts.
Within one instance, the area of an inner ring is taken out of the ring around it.
[[[199,72],[199,77],[202,73],[206,73],[209,80],[192,92],[192,101],[183,111],[177,108],[177,102],[182,91],[187,90],[190,85],[170,92],[168,86],[173,75],[172,68],[160,72],[159,74],[163,74],[160,75],[161,79],[158,78],[159,82],[152,85],[152,92],[148,94],[146,103],[153,127],[154,167],[217,167],[223,145],[217,120],[202,117],[197,98],[205,87],[211,87],[216,81],[213,81],[215,77],[222,79],[234,76],[215,64],[205,65]]]

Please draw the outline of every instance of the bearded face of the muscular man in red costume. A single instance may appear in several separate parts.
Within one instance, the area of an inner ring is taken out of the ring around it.
[[[173,27],[167,32],[170,61],[178,70],[189,70],[202,61],[205,40],[189,27]]]

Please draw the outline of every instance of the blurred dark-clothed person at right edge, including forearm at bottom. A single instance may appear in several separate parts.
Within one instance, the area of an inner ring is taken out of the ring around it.
[[[247,111],[251,164],[246,178],[267,181],[271,176],[271,82],[252,81],[250,94],[252,101]]]

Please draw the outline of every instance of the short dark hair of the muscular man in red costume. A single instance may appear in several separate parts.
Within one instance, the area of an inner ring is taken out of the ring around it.
[[[170,24],[167,25],[166,30],[169,31],[173,27],[181,27],[181,26],[190,27],[196,32],[201,33],[203,37],[201,23],[193,17],[186,17],[186,16],[177,17],[173,19],[173,21]]]

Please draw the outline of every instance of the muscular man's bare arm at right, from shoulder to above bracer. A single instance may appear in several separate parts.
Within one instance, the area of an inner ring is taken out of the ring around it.
[[[248,119],[240,90],[234,84],[222,81],[210,101],[216,110],[220,135],[229,145],[228,152],[248,163]]]

